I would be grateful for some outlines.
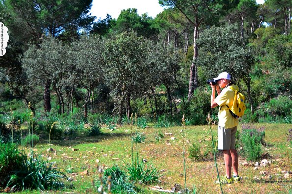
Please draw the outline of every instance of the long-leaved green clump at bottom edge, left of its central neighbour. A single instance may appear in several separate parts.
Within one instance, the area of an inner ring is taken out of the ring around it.
[[[102,181],[106,185],[107,179],[110,177],[111,192],[117,194],[133,193],[136,194],[135,181],[129,180],[127,173],[121,169],[118,165],[114,165],[111,168],[105,170]],[[96,179],[96,184],[100,185],[100,179]]]

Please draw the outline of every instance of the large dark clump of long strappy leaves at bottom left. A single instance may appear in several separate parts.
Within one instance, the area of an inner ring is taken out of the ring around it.
[[[62,189],[64,180],[70,181],[65,173],[53,167],[53,163],[43,160],[39,155],[29,156],[21,153],[17,161],[17,170],[8,181],[7,187],[13,190],[24,189]],[[71,181],[70,181],[71,185]]]

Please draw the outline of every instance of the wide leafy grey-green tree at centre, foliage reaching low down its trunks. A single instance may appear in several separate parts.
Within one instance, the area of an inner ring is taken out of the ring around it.
[[[130,118],[131,96],[143,93],[144,82],[150,69],[145,61],[151,44],[133,31],[123,32],[106,41],[103,53],[103,60],[106,63],[105,77],[112,88],[114,111],[119,116],[119,122],[121,122],[124,103],[127,117]]]

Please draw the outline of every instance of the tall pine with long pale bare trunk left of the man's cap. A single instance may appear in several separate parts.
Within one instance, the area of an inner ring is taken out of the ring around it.
[[[198,29],[204,22],[208,23],[214,21],[219,16],[222,6],[216,1],[206,0],[159,0],[159,4],[167,7],[176,7],[186,19],[192,24],[194,29],[194,42],[193,42],[193,60],[190,66],[190,78],[189,78],[189,92],[188,101],[194,93],[194,90],[198,87]]]

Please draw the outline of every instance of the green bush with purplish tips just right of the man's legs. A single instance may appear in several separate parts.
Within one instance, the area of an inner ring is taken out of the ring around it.
[[[265,144],[264,127],[256,128],[254,125],[242,125],[241,142],[247,160],[256,161],[261,157],[262,144]]]

